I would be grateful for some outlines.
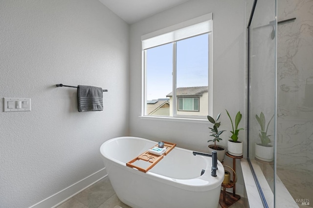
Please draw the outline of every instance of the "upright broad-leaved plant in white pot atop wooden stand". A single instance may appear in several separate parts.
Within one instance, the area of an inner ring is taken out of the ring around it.
[[[228,153],[233,155],[233,156],[242,156],[243,155],[243,142],[238,141],[238,134],[239,134],[240,130],[244,130],[244,129],[238,128],[238,125],[239,125],[243,115],[240,113],[240,111],[238,111],[238,113],[236,114],[236,117],[235,117],[235,125],[234,125],[227,110],[226,110],[226,112],[227,112],[227,115],[230,119],[231,127],[233,129],[232,131],[230,131],[232,135],[231,135],[231,137],[229,137],[230,140],[228,140],[228,142],[227,142]]]

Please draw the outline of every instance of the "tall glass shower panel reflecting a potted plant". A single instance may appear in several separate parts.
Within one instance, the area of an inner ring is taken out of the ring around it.
[[[276,1],[255,1],[248,26],[248,160],[264,207],[274,207]]]

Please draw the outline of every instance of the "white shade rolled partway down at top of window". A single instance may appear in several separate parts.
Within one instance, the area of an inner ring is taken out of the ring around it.
[[[205,19],[205,21],[204,21]],[[142,49],[176,42],[212,31],[212,13],[158,30],[141,37]]]

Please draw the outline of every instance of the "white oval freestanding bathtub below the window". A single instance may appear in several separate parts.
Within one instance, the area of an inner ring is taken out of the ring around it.
[[[118,137],[101,145],[118,198],[132,208],[217,208],[224,180],[219,161],[217,177],[212,177],[210,157],[194,156],[191,150],[175,147],[147,173],[126,166],[156,144],[143,138]],[[205,172],[201,175],[202,169]]]

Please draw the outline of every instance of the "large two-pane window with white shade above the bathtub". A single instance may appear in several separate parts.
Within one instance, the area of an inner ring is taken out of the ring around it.
[[[206,118],[209,114],[211,19],[212,14],[204,15],[182,22],[179,29],[174,25],[142,37],[143,116]]]

